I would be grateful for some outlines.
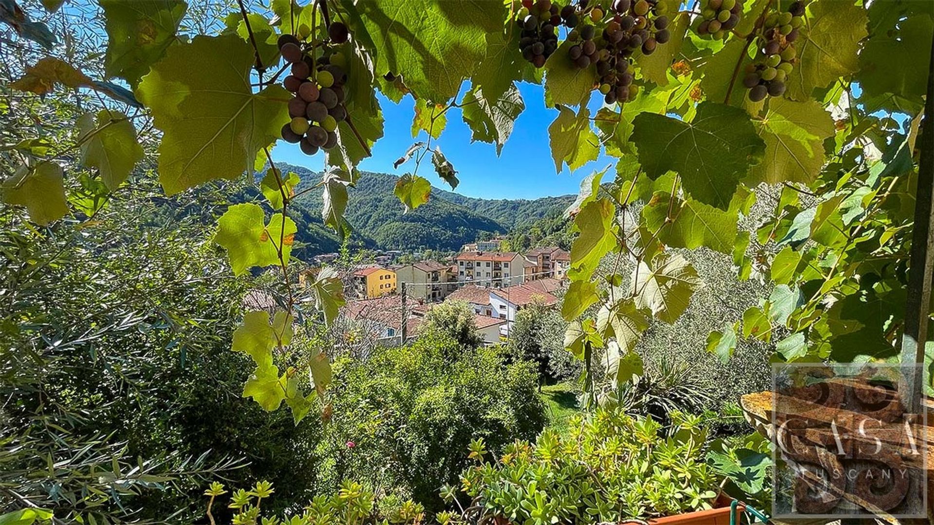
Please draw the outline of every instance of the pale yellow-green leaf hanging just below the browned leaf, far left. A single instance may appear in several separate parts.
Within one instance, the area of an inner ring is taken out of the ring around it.
[[[143,158],[133,122],[119,111],[102,109],[96,121],[93,113],[85,113],[76,123],[81,165],[100,170],[107,188],[116,190]]]

